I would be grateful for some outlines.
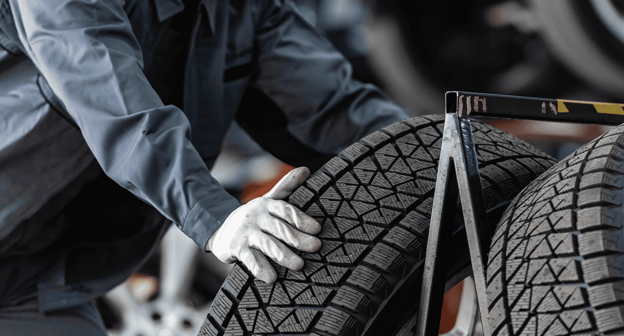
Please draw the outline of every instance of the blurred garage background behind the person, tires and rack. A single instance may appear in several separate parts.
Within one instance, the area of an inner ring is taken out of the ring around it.
[[[354,78],[377,84],[411,115],[442,113],[448,90],[624,102],[624,0],[295,2],[348,57]],[[490,123],[559,160],[610,129]],[[233,124],[212,173],[246,203],[290,169]],[[197,335],[230,267],[170,229],[139,273],[98,301],[110,335]],[[447,293],[441,334],[479,330],[471,286],[468,279]]]

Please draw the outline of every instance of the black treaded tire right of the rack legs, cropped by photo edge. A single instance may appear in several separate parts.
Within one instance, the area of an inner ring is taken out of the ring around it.
[[[624,125],[514,199],[492,239],[493,335],[622,335]]]

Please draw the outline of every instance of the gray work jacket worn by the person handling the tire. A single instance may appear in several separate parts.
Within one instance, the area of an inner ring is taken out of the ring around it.
[[[295,164],[407,118],[281,0],[199,1],[165,106],[152,65],[185,3],[0,0],[0,239],[95,158],[204,247],[239,206],[208,171],[234,118]]]

